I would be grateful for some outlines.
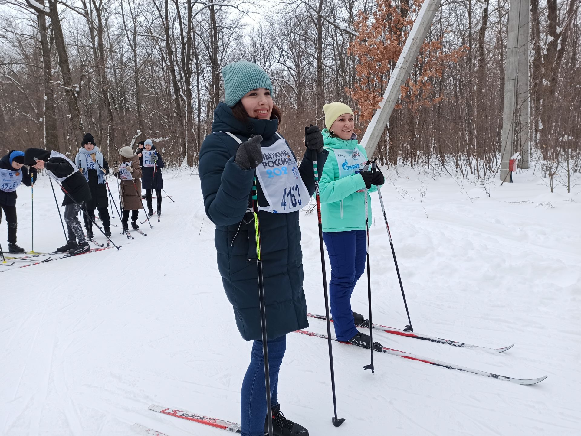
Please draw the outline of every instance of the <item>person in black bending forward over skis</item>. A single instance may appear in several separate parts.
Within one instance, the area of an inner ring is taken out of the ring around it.
[[[74,162],[64,154],[54,150],[27,149],[24,152],[24,163],[34,166],[37,170],[45,168],[48,175],[62,186],[61,190],[64,192],[63,218],[67,224],[68,236],[66,245],[57,248],[56,251],[80,254],[91,250],[85,239],[83,226],[78,220],[78,212],[81,211],[83,203],[91,200],[91,189]]]

